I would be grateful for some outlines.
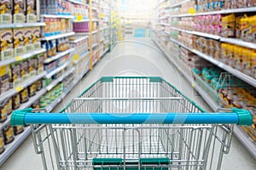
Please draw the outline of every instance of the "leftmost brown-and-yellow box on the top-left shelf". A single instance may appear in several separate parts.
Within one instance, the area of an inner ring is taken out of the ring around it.
[[[11,0],[0,0],[0,23],[9,24],[12,23],[12,6]]]

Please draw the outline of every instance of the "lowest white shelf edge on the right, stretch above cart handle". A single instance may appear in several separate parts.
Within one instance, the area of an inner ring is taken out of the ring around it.
[[[183,74],[183,76],[189,81],[189,83],[191,83],[192,87],[195,88],[195,90],[201,95],[201,97],[207,101],[208,105],[211,105],[212,110],[216,111],[219,108],[219,106],[214,102],[214,100],[212,100],[212,97],[209,94],[207,94],[207,92],[204,89],[202,89],[193,80],[192,76],[189,76],[184,71],[184,68],[182,66],[178,65],[177,62],[175,62],[172,59],[172,56],[170,56],[169,54],[166,53],[166,50],[164,48],[162,48],[158,42],[156,42],[156,41],[154,41],[154,42],[157,44],[157,46],[160,48],[160,50],[162,52],[164,52],[164,54],[168,57],[168,59],[172,62],[172,64],[176,66],[177,70],[180,71]]]

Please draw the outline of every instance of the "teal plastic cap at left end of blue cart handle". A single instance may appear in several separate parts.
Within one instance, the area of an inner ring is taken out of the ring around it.
[[[32,108],[24,109],[24,110],[16,110],[13,112],[11,116],[10,123],[11,125],[26,125],[25,116],[27,113],[32,112]]]

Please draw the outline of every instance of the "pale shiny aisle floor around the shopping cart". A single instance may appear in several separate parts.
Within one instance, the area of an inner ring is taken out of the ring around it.
[[[131,39],[132,40],[132,39]],[[168,82],[180,89],[183,94],[195,100],[201,107],[207,111],[211,109],[207,106],[201,96],[195,92],[189,82],[172,66],[167,59],[156,48],[154,42],[149,39],[137,39],[141,42],[119,42],[112,53],[108,53],[100,62],[95,65],[93,71],[90,71],[70,94],[67,95],[55,111],[60,111],[70,99],[78,96],[91,83],[102,76],[157,76],[163,77]],[[132,40],[133,41],[133,40]],[[32,136],[15,150],[15,153],[3,164],[0,169],[6,170],[40,170],[43,169],[40,156],[37,156],[33,149]],[[224,170],[229,169],[256,169],[256,160],[247,152],[247,150],[234,137],[231,144],[230,154],[224,156]]]

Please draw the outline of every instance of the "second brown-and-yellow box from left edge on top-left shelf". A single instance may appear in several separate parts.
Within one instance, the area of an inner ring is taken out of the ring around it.
[[[13,0],[14,23],[25,22],[24,1]]]

